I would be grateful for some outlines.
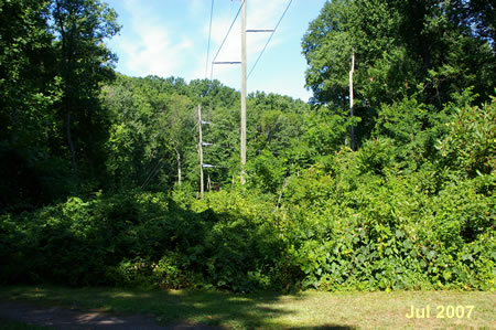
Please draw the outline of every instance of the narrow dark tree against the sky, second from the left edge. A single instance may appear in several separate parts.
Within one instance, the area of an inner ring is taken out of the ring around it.
[[[96,118],[97,96],[101,83],[112,77],[117,60],[104,42],[118,33],[116,18],[116,12],[98,0],[55,0],[51,6],[63,83],[60,114],[65,121],[73,173],[76,152],[88,156],[96,146],[95,130],[101,124]]]

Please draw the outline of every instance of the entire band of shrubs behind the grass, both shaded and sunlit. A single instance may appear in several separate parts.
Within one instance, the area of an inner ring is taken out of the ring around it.
[[[3,214],[0,280],[235,291],[495,289],[496,105],[459,104],[411,138],[379,114],[386,136],[357,151],[343,147],[284,181],[283,161],[263,152],[250,168],[251,184],[203,200],[177,185],[171,194],[99,193]]]

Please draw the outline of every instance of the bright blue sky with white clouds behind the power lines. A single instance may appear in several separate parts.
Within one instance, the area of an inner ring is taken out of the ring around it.
[[[119,35],[108,42],[119,56],[117,71],[130,76],[205,77],[211,0],[104,0],[119,14]],[[247,29],[273,29],[290,0],[246,0]],[[263,91],[308,100],[306,62],[301,39],[325,0],[293,0],[260,62],[248,78],[248,93]],[[240,0],[215,0],[209,62],[235,18]],[[250,72],[270,33],[248,33]],[[240,61],[240,15],[216,61]],[[240,65],[215,65],[214,79],[240,89]],[[211,77],[207,65],[206,77]]]

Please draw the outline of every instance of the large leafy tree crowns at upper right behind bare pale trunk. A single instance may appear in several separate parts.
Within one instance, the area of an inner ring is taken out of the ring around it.
[[[358,139],[370,136],[384,104],[418,97],[436,111],[474,86],[487,100],[496,84],[489,7],[477,1],[333,0],[303,36],[313,102],[345,108],[355,53]],[[457,6],[455,6],[457,4]]]

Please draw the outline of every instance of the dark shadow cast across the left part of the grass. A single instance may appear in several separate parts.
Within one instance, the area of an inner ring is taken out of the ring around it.
[[[272,307],[280,295],[234,295],[218,291],[159,291],[116,288],[0,287],[0,299],[45,306],[141,315],[162,326],[205,324],[226,329],[353,329],[339,324],[298,327],[278,318],[296,311]],[[116,324],[109,324],[116,326]],[[98,327],[105,329],[105,327]],[[147,329],[147,328],[144,328]]]

